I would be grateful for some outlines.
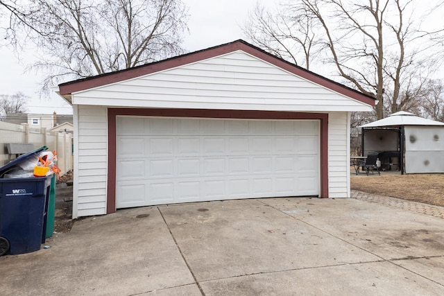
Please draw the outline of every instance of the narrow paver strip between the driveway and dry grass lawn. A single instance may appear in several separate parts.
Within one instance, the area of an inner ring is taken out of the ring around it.
[[[391,198],[388,196],[375,195],[356,190],[351,191],[351,197],[357,200],[376,202],[378,204],[384,204],[388,207],[395,207],[398,209],[404,209],[407,211],[413,211],[415,213],[425,214],[444,219],[444,207],[438,207],[432,204],[425,204],[422,202],[412,202],[410,200]]]

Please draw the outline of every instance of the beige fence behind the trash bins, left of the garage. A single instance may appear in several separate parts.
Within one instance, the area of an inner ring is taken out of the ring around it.
[[[17,125],[0,121],[0,147],[3,147],[0,150],[0,166],[15,158],[15,155],[8,154],[7,143],[33,143],[34,148],[46,146],[49,151],[57,151],[57,166],[62,171],[60,175],[65,175],[72,169],[72,134],[50,132],[46,128],[30,128],[27,123]]]

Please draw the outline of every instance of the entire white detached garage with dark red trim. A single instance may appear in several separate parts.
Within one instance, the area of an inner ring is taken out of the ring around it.
[[[375,100],[242,40],[59,85],[73,218],[155,204],[350,197],[350,112]]]

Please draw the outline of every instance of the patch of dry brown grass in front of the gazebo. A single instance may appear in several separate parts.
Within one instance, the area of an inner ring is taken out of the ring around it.
[[[351,177],[352,190],[444,207],[444,174]]]

